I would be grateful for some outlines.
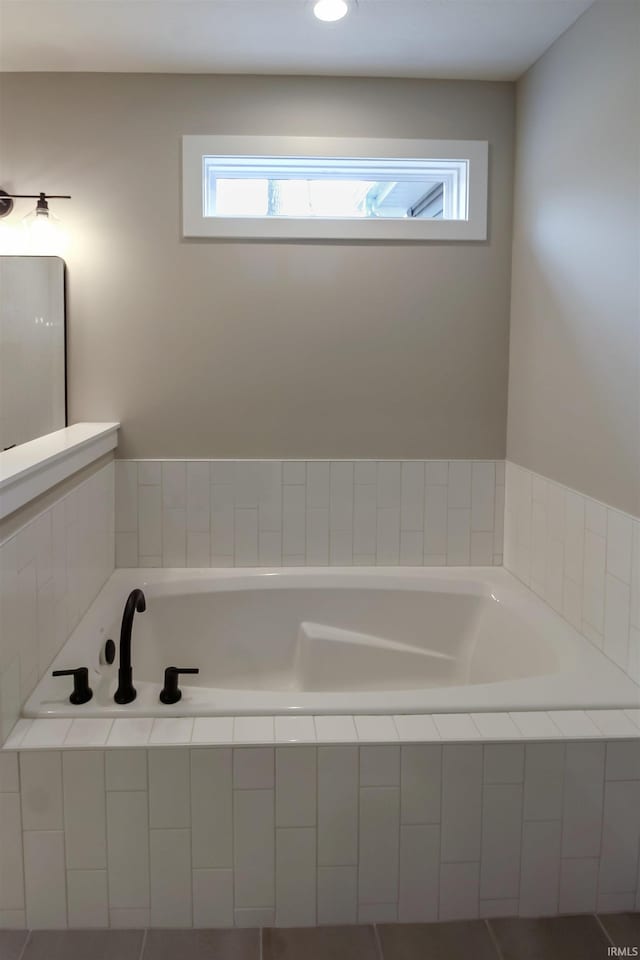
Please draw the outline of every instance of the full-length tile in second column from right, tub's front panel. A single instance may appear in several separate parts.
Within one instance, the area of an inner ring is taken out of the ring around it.
[[[568,743],[562,812],[562,856],[597,857],[602,833],[604,743]]]

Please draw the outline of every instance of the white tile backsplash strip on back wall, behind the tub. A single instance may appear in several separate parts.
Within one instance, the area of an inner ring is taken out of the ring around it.
[[[502,563],[504,469],[471,460],[118,460],[118,566]]]

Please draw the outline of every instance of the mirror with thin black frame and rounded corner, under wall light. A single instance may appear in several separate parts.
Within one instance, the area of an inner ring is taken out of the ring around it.
[[[0,257],[0,450],[67,425],[65,267]]]

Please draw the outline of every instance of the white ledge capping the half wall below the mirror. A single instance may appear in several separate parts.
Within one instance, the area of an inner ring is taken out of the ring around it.
[[[119,423],[75,423],[0,453],[0,520],[113,450]]]

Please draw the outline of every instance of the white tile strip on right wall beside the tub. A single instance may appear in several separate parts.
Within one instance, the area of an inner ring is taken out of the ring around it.
[[[640,519],[506,464],[504,565],[640,684]]]

